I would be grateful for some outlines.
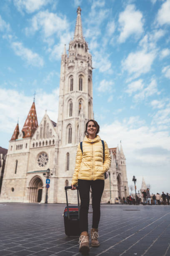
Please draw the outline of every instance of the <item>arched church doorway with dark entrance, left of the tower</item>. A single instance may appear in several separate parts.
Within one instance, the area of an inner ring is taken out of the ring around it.
[[[39,176],[35,176],[31,179],[29,185],[29,202],[41,202],[42,185],[42,179]]]

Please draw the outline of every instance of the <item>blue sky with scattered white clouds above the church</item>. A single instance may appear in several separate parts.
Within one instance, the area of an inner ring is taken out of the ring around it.
[[[170,0],[1,0],[0,146],[33,102],[57,122],[61,54],[77,7],[92,54],[93,110],[110,148],[122,141],[128,184],[170,193]]]

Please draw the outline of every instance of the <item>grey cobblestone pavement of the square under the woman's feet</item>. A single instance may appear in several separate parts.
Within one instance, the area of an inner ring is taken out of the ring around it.
[[[0,256],[80,256],[64,233],[62,204],[0,203]],[[89,210],[89,227],[92,209]],[[169,256],[169,205],[101,205],[98,256]]]

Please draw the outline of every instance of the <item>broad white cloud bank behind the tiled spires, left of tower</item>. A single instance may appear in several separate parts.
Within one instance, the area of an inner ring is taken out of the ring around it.
[[[38,123],[40,123],[45,114],[45,110],[47,110],[49,117],[57,122],[59,88],[53,90],[50,94],[40,90],[36,92],[36,95],[35,106]],[[11,137],[18,117],[21,130],[32,105],[32,101],[33,97],[26,96],[23,92],[0,89],[0,132],[7,132]],[[12,112],[11,108],[13,108]]]

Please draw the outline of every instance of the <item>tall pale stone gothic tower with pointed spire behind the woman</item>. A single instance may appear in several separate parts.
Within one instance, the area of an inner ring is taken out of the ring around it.
[[[93,118],[92,56],[83,37],[81,9],[77,8],[74,38],[61,57],[60,95],[57,120],[58,182],[70,184],[75,166],[77,144],[83,140],[85,123]],[[62,181],[61,181],[62,180]],[[60,185],[59,185],[60,186]],[[60,192],[57,202],[60,200]]]

